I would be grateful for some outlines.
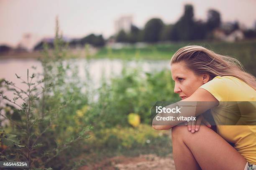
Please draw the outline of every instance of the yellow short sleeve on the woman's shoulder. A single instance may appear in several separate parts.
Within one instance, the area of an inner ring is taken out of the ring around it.
[[[228,82],[223,77],[216,76],[209,82],[200,86],[200,88],[210,92],[219,102],[228,101],[230,90],[228,89]]]

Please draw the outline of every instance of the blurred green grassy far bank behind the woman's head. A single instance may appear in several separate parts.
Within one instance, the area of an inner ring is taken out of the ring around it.
[[[256,40],[245,40],[240,42],[173,42],[147,45],[143,48],[137,48],[134,45],[123,47],[121,49],[112,49],[103,47],[95,58],[116,58],[125,60],[145,59],[145,60],[170,60],[172,55],[181,47],[187,45],[201,45],[216,53],[229,55],[238,59],[253,75],[256,75]]]

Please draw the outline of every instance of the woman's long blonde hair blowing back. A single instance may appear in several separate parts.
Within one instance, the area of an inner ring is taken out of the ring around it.
[[[256,90],[255,77],[245,72],[241,63],[235,58],[216,54],[205,47],[190,45],[175,52],[170,64],[182,61],[197,75],[207,73],[210,75],[210,80],[216,76],[237,77]]]

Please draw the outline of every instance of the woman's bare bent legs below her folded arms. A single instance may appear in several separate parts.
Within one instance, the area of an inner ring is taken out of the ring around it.
[[[246,165],[235,148],[206,126],[196,133],[189,132],[187,126],[175,126],[172,143],[177,170],[244,170]]]

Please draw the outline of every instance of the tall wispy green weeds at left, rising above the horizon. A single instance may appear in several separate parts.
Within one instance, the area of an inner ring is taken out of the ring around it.
[[[88,104],[87,93],[81,92],[87,85],[79,83],[75,65],[64,63],[67,45],[59,36],[58,23],[56,26],[53,52],[45,45],[42,75],[27,70],[24,79],[16,74],[27,89],[8,80],[0,81],[0,97],[8,101],[0,108],[0,114],[9,121],[0,130],[1,161],[28,161],[29,169],[65,170],[81,166],[74,158],[82,154],[82,139],[89,138],[87,133],[92,128],[86,122],[75,122],[74,117],[77,110]],[[42,79],[35,80],[37,76]],[[15,97],[9,99],[6,91]]]

